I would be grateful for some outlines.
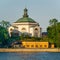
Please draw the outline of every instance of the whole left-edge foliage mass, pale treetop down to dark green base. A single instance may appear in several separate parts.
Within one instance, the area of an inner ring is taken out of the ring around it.
[[[8,34],[8,27],[11,24],[8,21],[2,20],[0,22],[0,44],[2,47],[8,47],[9,42],[9,34]]]

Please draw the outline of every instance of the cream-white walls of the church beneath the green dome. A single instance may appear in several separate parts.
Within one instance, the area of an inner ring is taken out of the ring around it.
[[[17,30],[19,32],[30,33],[31,36],[35,36],[35,28],[37,28],[38,29],[38,32],[37,32],[38,35],[37,35],[37,37],[40,37],[40,34],[41,34],[41,32],[40,32],[40,26],[38,26],[37,23],[13,23],[12,26],[16,26],[18,28]],[[8,29],[9,32],[11,32],[10,29],[11,29],[11,27],[9,27],[9,29]],[[25,29],[25,30],[22,30],[22,29]]]

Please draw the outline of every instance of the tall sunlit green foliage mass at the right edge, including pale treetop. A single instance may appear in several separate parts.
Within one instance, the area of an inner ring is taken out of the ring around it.
[[[60,47],[60,22],[58,22],[57,19],[51,19],[49,23],[50,26],[48,26],[47,32],[50,42],[53,42],[57,47]]]

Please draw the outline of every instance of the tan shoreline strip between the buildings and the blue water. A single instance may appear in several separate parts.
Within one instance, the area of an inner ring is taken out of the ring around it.
[[[48,48],[48,49],[0,48],[0,52],[60,52],[60,48]]]

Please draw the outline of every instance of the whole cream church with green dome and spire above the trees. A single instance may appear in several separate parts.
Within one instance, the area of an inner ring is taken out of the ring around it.
[[[15,32],[17,35],[25,33],[29,34],[31,37],[41,37],[40,25],[29,17],[27,8],[24,9],[23,17],[14,22],[8,28],[8,31],[10,36],[11,32]]]

